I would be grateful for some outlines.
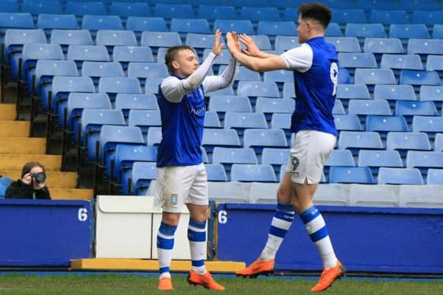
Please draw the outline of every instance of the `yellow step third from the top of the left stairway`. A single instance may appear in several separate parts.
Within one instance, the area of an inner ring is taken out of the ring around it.
[[[19,153],[23,155],[42,155],[46,153],[46,138],[0,137],[0,142],[0,153]]]

